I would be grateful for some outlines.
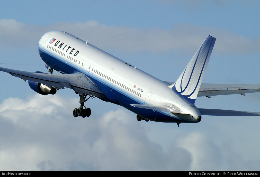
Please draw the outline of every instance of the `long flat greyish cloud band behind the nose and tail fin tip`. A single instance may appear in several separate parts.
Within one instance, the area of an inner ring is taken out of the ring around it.
[[[23,24],[14,19],[0,19],[2,45],[35,46],[48,31],[62,30],[88,40],[101,49],[151,53],[174,51],[195,53],[207,35],[217,38],[214,53],[248,54],[258,51],[259,39],[250,39],[211,26],[175,24],[171,29],[106,26],[97,21],[56,22],[48,26]]]

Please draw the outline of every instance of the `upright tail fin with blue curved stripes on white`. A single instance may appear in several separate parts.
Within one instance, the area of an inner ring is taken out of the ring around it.
[[[170,86],[173,91],[191,105],[194,105],[197,98],[215,41],[216,38],[208,36],[177,81]]]

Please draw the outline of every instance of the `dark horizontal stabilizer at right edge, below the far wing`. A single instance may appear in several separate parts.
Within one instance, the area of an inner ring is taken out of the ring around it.
[[[201,115],[225,115],[225,116],[255,116],[260,115],[260,112],[218,110],[218,109],[203,109],[198,108]]]

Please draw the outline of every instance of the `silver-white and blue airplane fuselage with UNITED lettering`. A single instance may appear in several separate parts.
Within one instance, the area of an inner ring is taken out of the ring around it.
[[[43,61],[62,73],[86,74],[107,97],[153,121],[198,122],[201,117],[196,106],[178,96],[169,84],[145,73],[69,33],[47,32],[39,41]],[[130,104],[175,106],[185,114],[134,108]],[[191,115],[191,116],[188,116]]]

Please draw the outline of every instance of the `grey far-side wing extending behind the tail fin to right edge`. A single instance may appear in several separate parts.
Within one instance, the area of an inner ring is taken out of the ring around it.
[[[174,84],[174,82],[166,82]],[[201,84],[197,97],[260,92],[260,84]]]

